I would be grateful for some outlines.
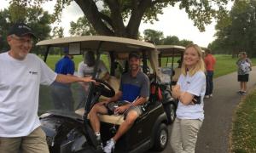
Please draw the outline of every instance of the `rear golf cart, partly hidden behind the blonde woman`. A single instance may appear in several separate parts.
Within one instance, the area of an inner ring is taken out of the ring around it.
[[[176,84],[181,74],[181,64],[185,48],[176,45],[158,45],[156,48],[160,52],[158,60],[161,78],[160,88],[164,91],[163,95],[169,97],[172,93],[172,86]],[[174,62],[174,60],[177,60],[177,62]],[[169,122],[173,122],[176,117],[177,102],[177,99],[173,98],[163,101]]]

